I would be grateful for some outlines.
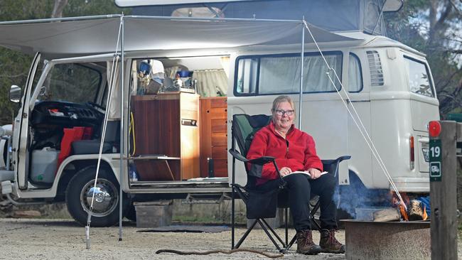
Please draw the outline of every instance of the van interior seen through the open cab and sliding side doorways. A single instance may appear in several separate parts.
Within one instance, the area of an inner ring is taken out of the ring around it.
[[[131,185],[227,183],[229,57],[139,58],[130,67]],[[100,152],[111,69],[111,61],[58,63],[35,91],[28,148],[33,186],[50,188],[69,156]],[[119,153],[120,112],[113,107],[102,153]]]

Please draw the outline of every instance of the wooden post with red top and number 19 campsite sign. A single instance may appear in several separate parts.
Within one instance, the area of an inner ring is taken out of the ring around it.
[[[456,141],[462,137],[457,136],[461,126],[455,121],[440,124],[441,134],[431,137],[429,146],[431,259],[457,259]]]

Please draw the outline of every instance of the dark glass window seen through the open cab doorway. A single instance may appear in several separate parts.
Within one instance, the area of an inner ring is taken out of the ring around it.
[[[102,73],[85,64],[54,65],[43,82],[39,101],[72,103],[95,102],[102,82]]]

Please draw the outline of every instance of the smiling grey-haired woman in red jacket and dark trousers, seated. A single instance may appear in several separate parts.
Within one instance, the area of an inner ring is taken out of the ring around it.
[[[262,156],[276,158],[281,176],[286,180],[289,194],[289,207],[294,219],[297,237],[297,252],[318,254],[321,251],[344,253],[345,246],[335,239],[338,229],[335,221],[336,206],[333,201],[336,180],[331,174],[321,175],[323,164],[316,155],[316,147],[309,134],[294,126],[294,102],[288,96],[274,99],[272,121],[257,131],[247,152],[248,159]],[[306,171],[306,174],[291,174]],[[280,183],[276,168],[267,163],[262,168],[262,178],[257,179],[257,189],[272,190]],[[321,200],[321,240],[319,246],[313,243],[309,215],[311,194],[319,195]],[[320,247],[321,246],[321,247]]]

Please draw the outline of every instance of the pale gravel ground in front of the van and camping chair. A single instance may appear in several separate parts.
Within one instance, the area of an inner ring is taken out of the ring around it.
[[[118,227],[91,228],[91,249],[86,249],[85,227],[72,220],[0,219],[0,259],[264,259],[249,252],[210,254],[208,256],[180,256],[155,254],[159,249],[181,251],[208,251],[230,249],[231,232],[137,232],[130,222],[124,222],[123,241],[118,241]],[[245,232],[237,229],[237,237]],[[284,234],[284,229],[277,229]],[[289,230],[289,237],[294,230]],[[345,242],[343,230],[338,240]],[[313,238],[319,241],[318,232]],[[262,230],[249,234],[242,248],[257,249],[269,254],[279,254]],[[296,245],[284,255],[284,259],[345,259],[344,254],[296,254]]]

